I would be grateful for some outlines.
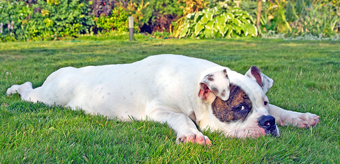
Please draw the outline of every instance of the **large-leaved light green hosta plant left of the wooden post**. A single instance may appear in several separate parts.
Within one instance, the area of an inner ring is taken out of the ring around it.
[[[223,38],[257,36],[257,28],[248,12],[237,7],[207,8],[186,16],[179,38]]]

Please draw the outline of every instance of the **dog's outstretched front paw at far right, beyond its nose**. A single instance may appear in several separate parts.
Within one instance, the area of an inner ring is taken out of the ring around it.
[[[318,124],[319,116],[311,113],[298,113],[297,115],[287,115],[278,122],[281,126],[291,125],[298,128],[309,128]]]

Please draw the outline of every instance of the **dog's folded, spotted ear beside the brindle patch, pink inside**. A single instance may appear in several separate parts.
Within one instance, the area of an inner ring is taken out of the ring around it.
[[[199,85],[198,96],[203,102],[213,102],[216,96],[224,101],[229,98],[230,86],[225,69],[207,74]]]

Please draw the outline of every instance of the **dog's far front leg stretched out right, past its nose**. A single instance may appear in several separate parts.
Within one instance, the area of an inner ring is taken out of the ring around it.
[[[281,126],[290,125],[298,128],[309,128],[319,122],[319,116],[315,114],[288,111],[271,104],[269,104],[268,112],[275,118],[276,124]]]

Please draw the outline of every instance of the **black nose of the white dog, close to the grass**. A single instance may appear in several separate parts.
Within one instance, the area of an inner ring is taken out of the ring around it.
[[[265,134],[277,136],[275,118],[267,115],[258,118],[258,126],[264,129]]]

